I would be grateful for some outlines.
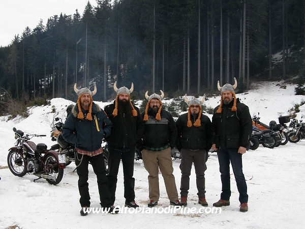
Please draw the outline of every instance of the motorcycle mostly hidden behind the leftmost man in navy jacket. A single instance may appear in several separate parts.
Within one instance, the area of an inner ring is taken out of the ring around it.
[[[64,139],[63,135],[61,134],[64,126],[63,120],[61,118],[58,117],[54,118],[51,126],[52,126],[51,140],[57,142],[57,144],[51,146],[51,150],[57,151],[59,155],[65,155],[67,159],[66,166],[68,166],[69,164],[71,164],[71,162],[75,162],[75,146],[74,144],[67,142]],[[109,152],[107,150],[107,146],[103,147],[103,157],[104,157],[106,174],[108,174]]]

